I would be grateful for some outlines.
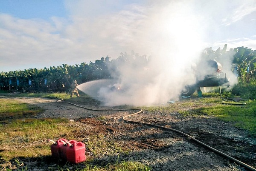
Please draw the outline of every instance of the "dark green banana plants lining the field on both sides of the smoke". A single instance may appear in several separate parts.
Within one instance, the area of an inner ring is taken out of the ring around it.
[[[212,48],[205,48],[202,51],[202,59],[215,59],[217,61],[233,56],[233,72],[241,82],[248,83],[256,78],[256,50],[250,48],[238,47],[227,51],[227,45],[224,48],[218,48],[216,51]],[[73,80],[85,83],[92,80],[110,79],[112,73],[117,72],[117,63],[132,62],[134,64],[145,64],[148,62],[145,56],[138,54],[121,53],[118,58],[110,60],[110,57],[102,57],[95,63],[81,63],[80,65],[70,66],[52,66],[44,69],[29,68],[23,71],[9,71],[0,73],[0,89],[4,91],[67,91]],[[118,73],[117,73],[118,74]]]

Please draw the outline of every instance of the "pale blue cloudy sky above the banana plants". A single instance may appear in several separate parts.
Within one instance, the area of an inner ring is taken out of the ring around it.
[[[224,44],[256,49],[256,0],[0,0],[0,72]]]

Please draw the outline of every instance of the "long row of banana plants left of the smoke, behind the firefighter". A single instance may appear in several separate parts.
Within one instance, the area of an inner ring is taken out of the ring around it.
[[[52,66],[50,68],[29,68],[24,71],[9,71],[0,73],[1,90],[20,92],[67,91],[73,80],[84,83],[91,80],[110,78],[108,72],[109,57],[102,57],[95,63],[80,65]]]

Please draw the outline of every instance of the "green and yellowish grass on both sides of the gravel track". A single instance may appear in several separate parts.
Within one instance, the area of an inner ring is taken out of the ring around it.
[[[47,97],[52,99],[63,99],[66,101],[80,104],[95,104],[96,100],[81,94],[81,97],[70,98],[65,93],[30,93],[22,94],[29,97]],[[67,95],[67,96],[66,96]],[[20,94],[18,94],[20,97]],[[186,115],[209,115],[218,117],[221,120],[232,122],[235,126],[248,130],[251,135],[256,136],[256,101],[249,100],[246,105],[224,105],[219,94],[203,93],[203,97],[186,99],[182,102],[175,102],[170,105],[141,107],[144,111],[150,113],[172,113],[179,111],[183,116]],[[207,106],[210,104],[209,106]],[[205,107],[207,106],[207,107]],[[125,106],[127,108],[128,106]],[[192,110],[183,110],[186,107],[192,107]],[[17,157],[46,157],[50,156],[50,143],[46,142],[48,138],[58,140],[61,137],[66,139],[76,139],[73,130],[80,131],[75,126],[70,127],[70,123],[65,119],[33,119],[33,116],[44,111],[33,105],[20,103],[15,100],[0,99],[0,160],[8,162]],[[105,120],[99,117],[99,121]],[[87,142],[88,148],[93,148],[93,153],[100,153],[108,148],[115,148],[116,152],[125,152],[115,142],[105,142],[104,135],[91,135],[90,142]],[[43,140],[43,141],[42,141]],[[21,143],[29,143],[26,148],[17,148]],[[148,171],[149,168],[140,162],[122,161],[111,163],[105,166],[90,165],[90,161],[85,162],[82,171]],[[67,165],[68,166],[68,165]],[[58,170],[63,170],[66,166],[59,165]],[[67,167],[68,168],[68,167]],[[78,171],[79,169],[77,169]],[[80,169],[81,170],[81,169]]]

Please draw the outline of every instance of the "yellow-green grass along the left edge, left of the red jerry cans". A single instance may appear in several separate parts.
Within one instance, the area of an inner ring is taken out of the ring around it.
[[[72,137],[67,119],[35,119],[42,111],[34,105],[0,99],[0,149],[5,149],[0,150],[2,159],[49,155],[49,144],[41,140],[57,139],[61,134]],[[31,145],[17,148],[23,142]]]

